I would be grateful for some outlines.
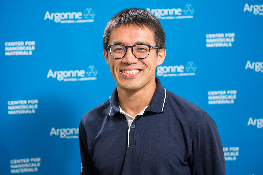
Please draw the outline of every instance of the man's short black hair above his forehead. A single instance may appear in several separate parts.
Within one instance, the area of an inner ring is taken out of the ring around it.
[[[103,48],[109,45],[110,32],[114,27],[124,25],[137,25],[138,27],[148,27],[154,33],[154,41],[157,47],[165,49],[165,33],[159,19],[144,9],[127,8],[115,14],[108,22],[103,35]],[[159,49],[156,49],[158,54]]]

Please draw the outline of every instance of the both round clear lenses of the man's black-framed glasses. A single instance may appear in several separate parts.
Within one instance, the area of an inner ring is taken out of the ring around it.
[[[113,45],[110,48],[110,53],[114,58],[122,58],[126,53],[126,48],[123,45]],[[138,58],[146,58],[149,54],[149,47],[143,44],[135,45],[133,54]]]

